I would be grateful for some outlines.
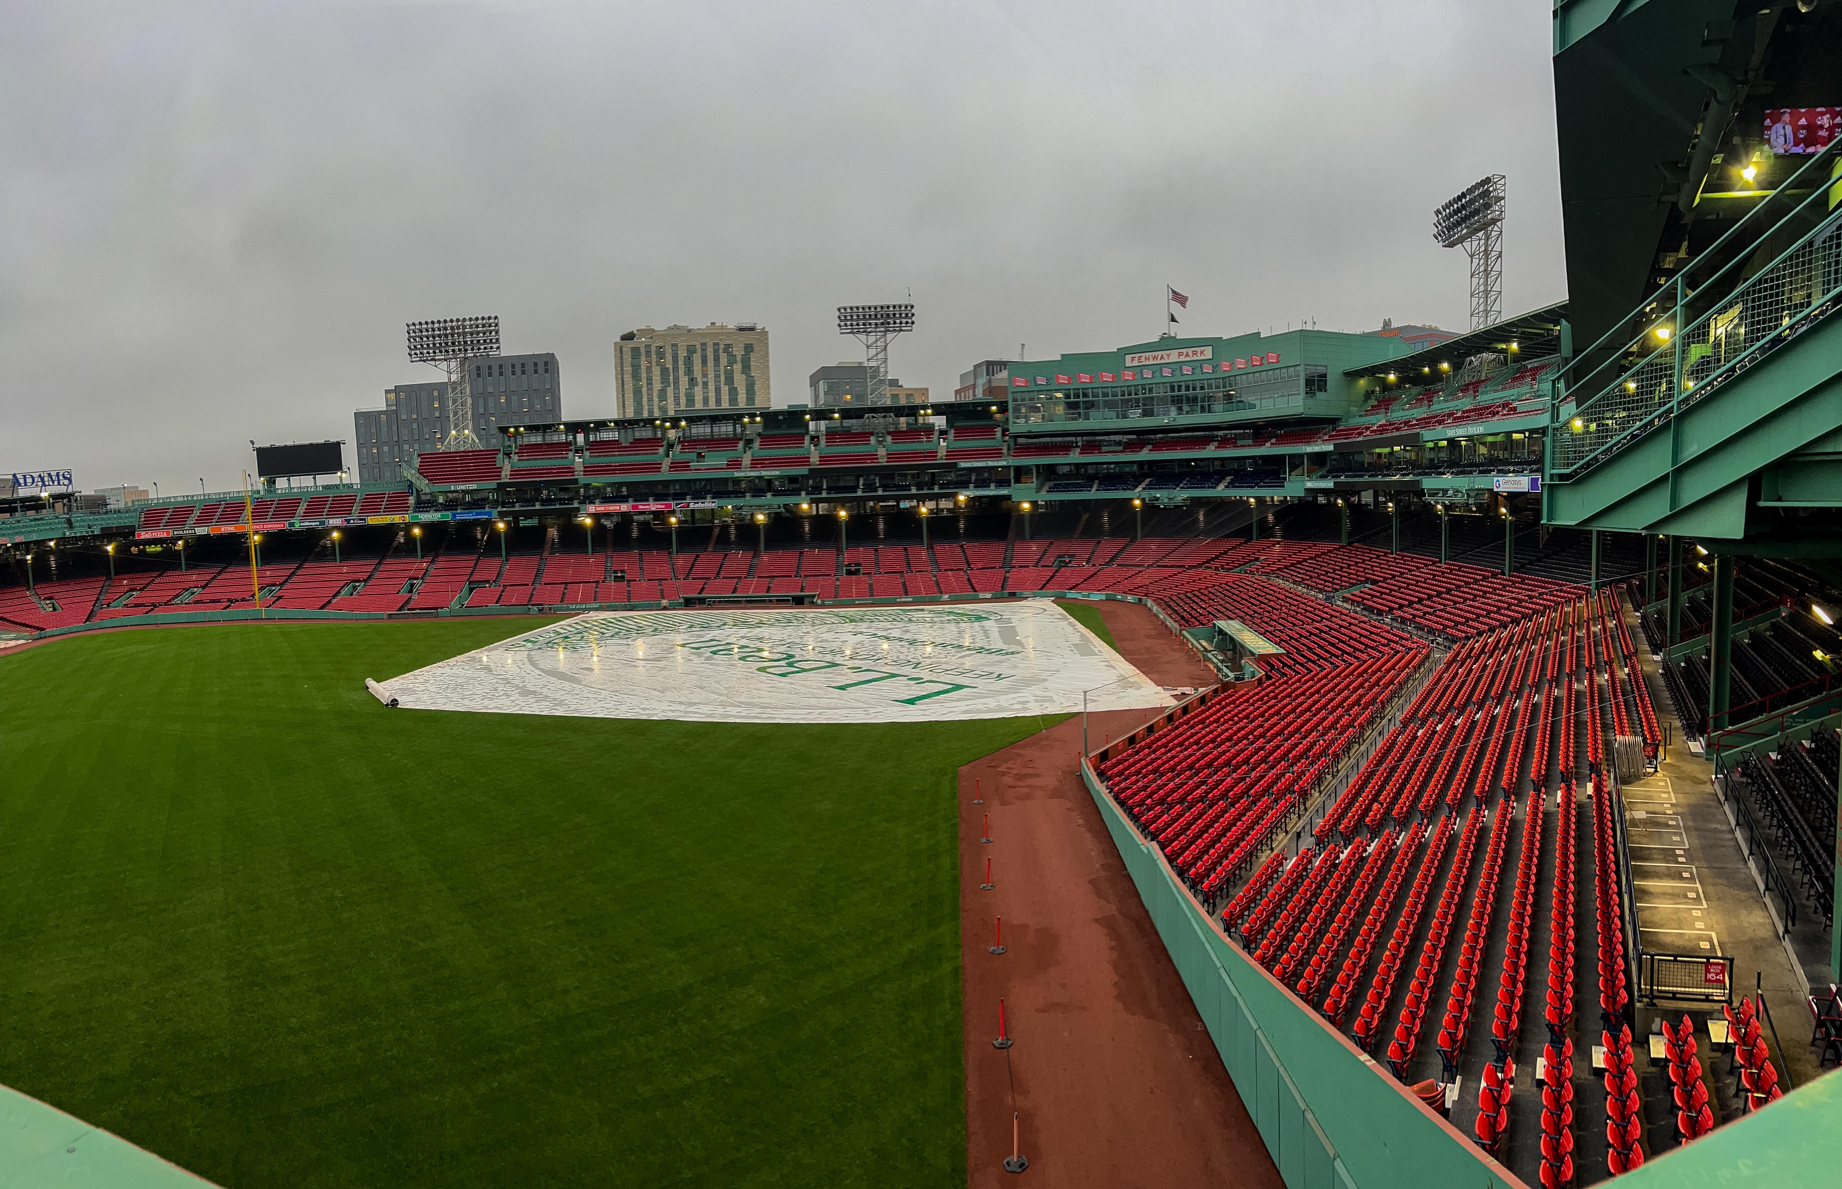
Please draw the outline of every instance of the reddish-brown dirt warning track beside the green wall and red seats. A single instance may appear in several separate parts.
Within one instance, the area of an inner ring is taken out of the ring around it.
[[[1160,685],[1212,675],[1146,607],[1098,604]],[[1092,714],[1092,745],[1151,718]],[[1081,784],[1081,718],[960,769],[969,1183],[1282,1189],[1195,1005]],[[973,804],[974,782],[985,804]],[[991,815],[991,845],[980,843]],[[997,887],[980,891],[985,860]],[[993,918],[1006,953],[989,953]],[[1015,1045],[991,1047],[1004,998]],[[1011,1086],[1030,1169],[1011,1178]]]

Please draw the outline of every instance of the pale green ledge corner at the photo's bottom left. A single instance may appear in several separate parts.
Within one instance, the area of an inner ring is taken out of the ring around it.
[[[6,1189],[210,1189],[212,1182],[0,1086],[0,1185]]]

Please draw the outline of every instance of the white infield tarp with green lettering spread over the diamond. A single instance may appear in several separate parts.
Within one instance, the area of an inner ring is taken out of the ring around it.
[[[1052,602],[600,611],[379,683],[411,710],[869,723],[1172,705]]]

